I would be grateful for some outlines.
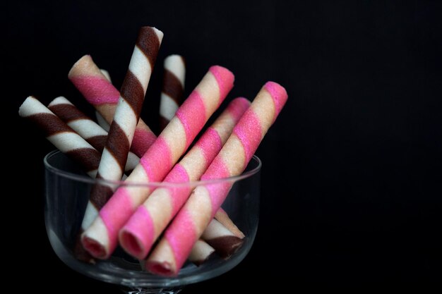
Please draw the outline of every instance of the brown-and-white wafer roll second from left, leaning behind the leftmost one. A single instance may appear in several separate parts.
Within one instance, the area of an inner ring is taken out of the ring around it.
[[[65,97],[56,97],[47,106],[61,121],[67,123],[78,135],[83,137],[92,147],[102,152],[106,143],[107,131],[88,118]],[[129,152],[124,171],[132,171],[140,161],[133,152]]]

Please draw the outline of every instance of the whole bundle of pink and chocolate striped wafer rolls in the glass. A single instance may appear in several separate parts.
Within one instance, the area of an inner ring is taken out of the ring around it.
[[[37,125],[88,176],[104,179],[90,192],[74,255],[94,262],[107,259],[120,245],[143,260],[148,271],[174,276],[186,260],[199,265],[214,252],[228,258],[244,243],[241,228],[221,208],[232,183],[196,188],[147,184],[241,174],[287,101],[287,92],[267,82],[253,102],[231,99],[212,125],[204,128],[232,90],[233,73],[211,66],[184,99],[184,59],[167,56],[160,133],[155,135],[140,116],[162,37],[155,27],[141,27],[120,90],[91,56],[73,64],[68,78],[95,108],[98,123],[65,97],[48,106],[28,97],[19,114]],[[115,181],[146,185],[117,187]]]

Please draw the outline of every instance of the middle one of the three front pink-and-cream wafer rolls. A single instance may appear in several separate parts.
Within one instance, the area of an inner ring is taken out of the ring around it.
[[[185,183],[199,180],[249,105],[249,100],[245,98],[237,98],[230,102],[227,109],[205,131],[201,139],[167,174],[164,182]],[[190,192],[191,187],[187,185],[157,188],[153,191],[121,228],[119,232],[121,247],[133,257],[144,259],[155,240],[186,202]]]

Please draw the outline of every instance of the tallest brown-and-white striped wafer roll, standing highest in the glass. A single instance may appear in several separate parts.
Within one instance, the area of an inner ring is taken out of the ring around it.
[[[129,63],[129,71],[127,71],[121,86],[119,103],[115,109],[114,120],[110,125],[98,166],[97,178],[120,180],[123,176],[161,39],[162,32],[153,27],[141,27],[138,33],[136,46]],[[113,186],[94,185],[91,194],[109,199],[113,189]]]

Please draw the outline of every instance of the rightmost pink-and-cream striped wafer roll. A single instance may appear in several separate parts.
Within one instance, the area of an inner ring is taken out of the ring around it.
[[[244,171],[286,101],[285,89],[267,82],[201,179],[227,178]],[[193,190],[148,258],[147,269],[155,274],[176,275],[231,187],[232,183],[226,181]]]

